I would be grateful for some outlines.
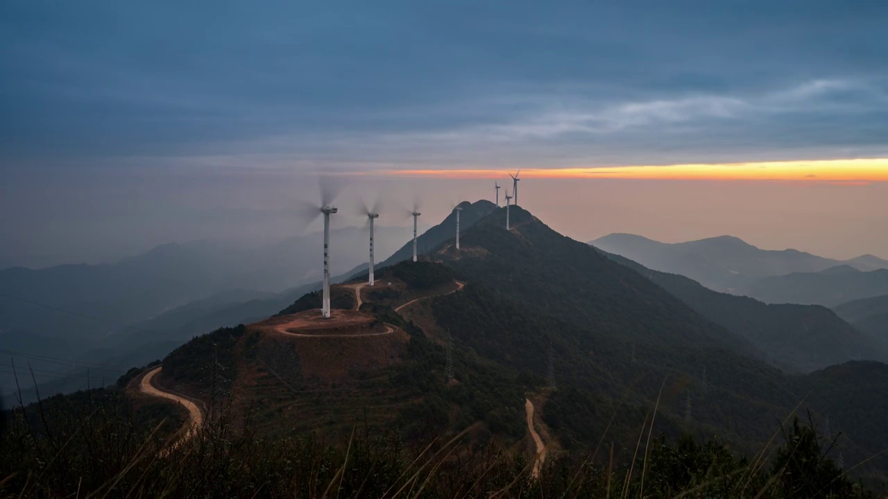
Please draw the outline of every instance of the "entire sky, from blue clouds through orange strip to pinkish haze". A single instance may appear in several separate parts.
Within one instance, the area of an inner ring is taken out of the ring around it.
[[[886,21],[879,0],[8,0],[0,266],[302,231],[319,172],[432,224],[518,169],[519,203],[581,241],[888,257]]]

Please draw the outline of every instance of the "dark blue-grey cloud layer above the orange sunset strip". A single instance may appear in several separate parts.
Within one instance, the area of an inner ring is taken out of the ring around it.
[[[6,160],[872,155],[888,126],[877,1],[0,9]]]

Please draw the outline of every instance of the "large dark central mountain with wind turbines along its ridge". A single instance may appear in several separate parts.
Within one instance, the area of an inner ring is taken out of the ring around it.
[[[260,438],[315,430],[347,440],[361,424],[408,442],[468,429],[472,445],[505,448],[527,434],[527,399],[551,449],[595,448],[606,435],[625,462],[654,406],[658,433],[718,435],[754,455],[810,387],[831,383],[787,376],[760,359],[751,336],[526,210],[511,210],[509,231],[504,217],[480,218],[459,250],[451,234],[419,262],[380,268],[374,288],[334,286],[332,321],[315,318],[312,291],[264,321],[195,337],[164,358],[160,386],[205,404],[231,393]],[[843,403],[868,407],[860,392]],[[861,417],[884,432],[874,422],[888,415],[877,409]],[[846,434],[849,461],[881,450],[852,426],[833,428]],[[886,467],[876,458],[855,472]]]

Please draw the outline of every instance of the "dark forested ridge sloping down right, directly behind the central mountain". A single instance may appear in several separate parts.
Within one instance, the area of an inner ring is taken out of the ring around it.
[[[861,334],[828,308],[767,305],[754,298],[706,289],[683,275],[650,270],[628,258],[606,255],[645,275],[710,321],[745,337],[765,354],[763,360],[789,372],[810,372],[864,356],[888,360],[888,350],[881,342]]]

